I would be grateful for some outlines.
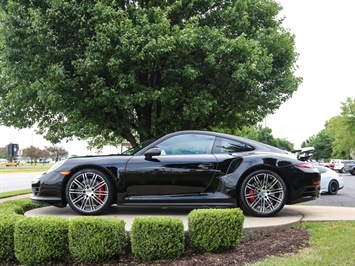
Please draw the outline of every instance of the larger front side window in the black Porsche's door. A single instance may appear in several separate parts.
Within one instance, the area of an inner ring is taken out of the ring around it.
[[[164,140],[157,147],[162,150],[162,155],[209,154],[214,141],[213,136],[183,134]]]

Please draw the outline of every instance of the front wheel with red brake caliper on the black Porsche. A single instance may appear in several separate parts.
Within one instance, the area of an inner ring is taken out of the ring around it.
[[[114,189],[104,173],[95,169],[84,169],[70,177],[65,196],[75,212],[96,215],[112,204]]]

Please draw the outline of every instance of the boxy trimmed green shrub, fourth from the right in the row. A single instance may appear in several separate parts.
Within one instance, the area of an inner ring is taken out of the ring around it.
[[[15,256],[21,264],[36,265],[67,257],[68,220],[58,217],[24,218],[15,225]]]

